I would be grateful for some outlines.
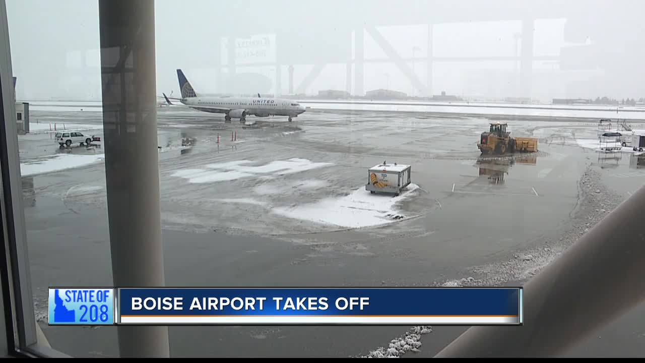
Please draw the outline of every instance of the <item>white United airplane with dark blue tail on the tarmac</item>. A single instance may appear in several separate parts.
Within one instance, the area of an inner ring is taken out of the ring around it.
[[[239,119],[240,123],[246,125],[255,124],[254,120],[246,121],[246,116],[269,117],[288,116],[289,122],[298,117],[306,109],[303,105],[283,98],[262,98],[260,94],[256,97],[213,97],[198,96],[195,89],[190,85],[184,72],[177,69],[177,79],[181,90],[181,99],[184,105],[204,112],[224,114],[224,122],[229,123],[231,119]],[[170,99],[166,97],[166,102]],[[172,103],[170,103],[172,105]]]

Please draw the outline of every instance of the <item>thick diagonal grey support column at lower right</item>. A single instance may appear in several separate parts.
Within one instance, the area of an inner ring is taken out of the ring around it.
[[[436,357],[557,357],[645,300],[645,187],[524,285],[524,326],[471,327]]]

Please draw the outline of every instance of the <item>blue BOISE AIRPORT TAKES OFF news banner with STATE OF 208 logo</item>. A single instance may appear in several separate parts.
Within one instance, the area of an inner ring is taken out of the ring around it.
[[[51,325],[520,325],[522,288],[63,288]]]

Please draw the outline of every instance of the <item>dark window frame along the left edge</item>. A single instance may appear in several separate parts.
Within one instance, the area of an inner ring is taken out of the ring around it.
[[[69,357],[46,342],[34,313],[5,0],[0,0],[0,352],[5,357]],[[39,337],[40,336],[40,337]]]

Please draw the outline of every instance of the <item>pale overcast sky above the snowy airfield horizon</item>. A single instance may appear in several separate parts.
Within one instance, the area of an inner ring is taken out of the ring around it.
[[[6,4],[17,97],[99,100],[97,1]],[[413,87],[402,68],[413,70],[417,84],[425,87],[426,59],[372,60],[388,59],[388,49],[401,59],[425,58],[432,44],[433,94],[524,96],[521,62],[512,57],[522,54],[526,40],[522,19],[533,18],[524,23],[533,25],[531,97],[640,98],[645,97],[641,14],[645,1],[639,0],[157,0],[157,92],[179,94],[175,69],[183,68],[198,93],[273,93],[279,88],[286,94],[288,66],[293,65],[294,92],[332,88],[355,93],[355,28],[375,25],[386,45],[369,29],[363,31],[364,91],[424,92]],[[235,42],[232,80],[226,67],[232,58],[230,39]],[[312,69],[319,72],[310,74]]]

